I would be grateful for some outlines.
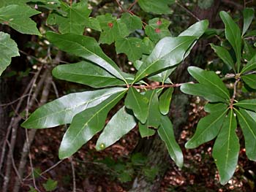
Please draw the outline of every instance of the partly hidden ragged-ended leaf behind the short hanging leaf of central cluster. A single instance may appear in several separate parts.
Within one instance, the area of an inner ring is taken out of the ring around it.
[[[146,111],[148,120],[144,124],[139,122],[139,131],[141,137],[150,137],[154,135],[154,128],[159,127],[161,113],[159,112],[157,91],[157,89],[154,89],[147,91],[145,94],[145,96],[148,98],[148,110]]]

